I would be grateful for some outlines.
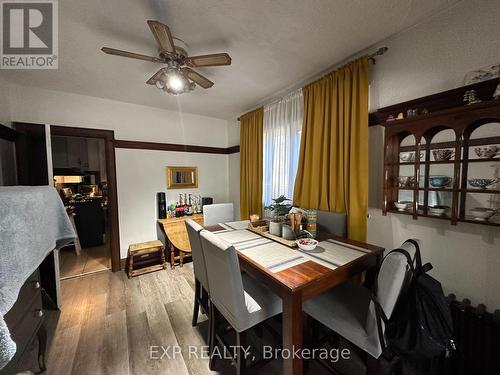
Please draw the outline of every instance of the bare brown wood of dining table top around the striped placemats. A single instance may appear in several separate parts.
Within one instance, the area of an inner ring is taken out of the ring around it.
[[[205,229],[214,232],[225,228],[220,225],[211,225],[205,227]],[[336,269],[325,267],[314,261],[307,261],[280,272],[272,272],[248,256],[238,252],[240,266],[280,295],[282,293],[292,293],[302,290],[304,297],[307,298],[318,294],[318,289],[322,290],[325,286],[331,288],[352,276],[366,271],[368,268],[376,265],[377,256],[381,256],[384,252],[384,248],[379,246],[337,237],[329,233],[318,233],[318,241],[326,239],[334,239],[347,245],[358,246],[369,252]]]

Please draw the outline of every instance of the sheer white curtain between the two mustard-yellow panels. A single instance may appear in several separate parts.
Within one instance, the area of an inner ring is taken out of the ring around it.
[[[302,89],[264,107],[263,202],[293,197],[299,161],[304,99]]]

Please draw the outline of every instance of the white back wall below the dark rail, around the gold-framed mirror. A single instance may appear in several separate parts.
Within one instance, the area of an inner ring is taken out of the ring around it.
[[[227,155],[117,149],[116,161],[122,258],[128,244],[156,238],[156,192],[165,191],[167,165],[198,167],[198,189],[167,190],[167,202],[180,192],[228,201]]]

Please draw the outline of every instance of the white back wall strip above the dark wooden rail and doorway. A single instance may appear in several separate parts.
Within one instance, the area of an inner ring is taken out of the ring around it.
[[[227,121],[212,117],[19,85],[12,85],[11,103],[13,121],[109,129],[122,140],[227,147]]]

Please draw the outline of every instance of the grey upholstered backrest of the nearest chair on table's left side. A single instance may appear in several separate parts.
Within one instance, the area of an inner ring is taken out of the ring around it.
[[[233,327],[238,327],[240,322],[248,319],[248,310],[236,250],[209,231],[201,231],[200,237],[207,265],[210,300]]]

